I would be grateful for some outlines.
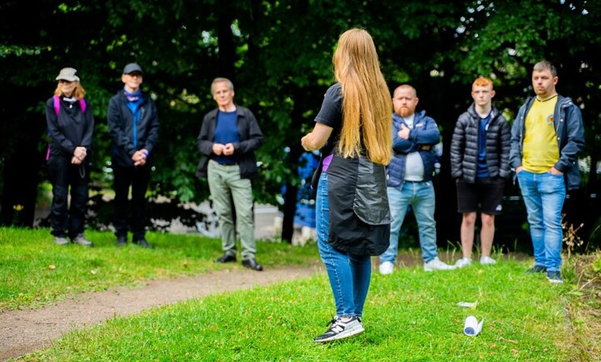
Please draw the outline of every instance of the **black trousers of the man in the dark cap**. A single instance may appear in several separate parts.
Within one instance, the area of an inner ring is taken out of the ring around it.
[[[113,166],[113,189],[115,189],[115,235],[127,237],[131,229],[133,241],[144,238],[146,232],[146,190],[150,182],[151,166]],[[129,189],[131,187],[131,202]]]

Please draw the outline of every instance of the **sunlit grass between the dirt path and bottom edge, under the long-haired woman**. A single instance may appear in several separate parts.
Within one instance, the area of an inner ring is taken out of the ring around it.
[[[24,361],[569,361],[578,354],[564,309],[569,287],[526,267],[374,274],[366,332],[328,345],[312,341],[334,313],[323,274],[113,318]],[[484,318],[479,336],[463,334],[468,315]]]

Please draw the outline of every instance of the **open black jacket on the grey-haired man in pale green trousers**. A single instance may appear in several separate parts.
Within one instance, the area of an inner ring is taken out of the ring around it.
[[[196,177],[207,178],[207,166],[213,155],[213,135],[217,126],[219,109],[207,113],[202,120],[200,133],[196,138],[198,151],[202,154],[196,171]],[[257,162],[254,151],[263,144],[263,133],[254,114],[242,106],[236,105],[236,117],[240,143],[233,145],[233,154],[238,158],[241,178],[253,178],[257,173]]]

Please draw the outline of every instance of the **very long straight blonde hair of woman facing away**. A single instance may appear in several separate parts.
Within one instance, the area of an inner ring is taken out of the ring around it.
[[[343,32],[332,61],[343,96],[338,151],[352,158],[365,147],[372,162],[388,164],[392,157],[392,97],[371,35],[358,28]]]

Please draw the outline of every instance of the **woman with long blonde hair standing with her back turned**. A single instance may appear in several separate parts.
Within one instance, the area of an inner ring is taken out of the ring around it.
[[[336,83],[301,140],[305,150],[321,150],[314,175],[317,242],[336,305],[316,342],[365,330],[371,256],[388,248],[391,221],[385,165],[392,157],[392,103],[371,35],[359,28],[343,32],[332,61]]]

